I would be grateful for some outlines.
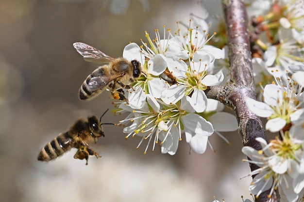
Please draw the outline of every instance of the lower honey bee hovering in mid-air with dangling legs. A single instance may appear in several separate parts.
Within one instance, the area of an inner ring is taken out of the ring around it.
[[[108,109],[102,114],[102,116]],[[101,116],[101,118],[102,118]],[[101,157],[97,152],[89,148],[89,143],[96,143],[101,136],[104,137],[101,118],[98,120],[96,116],[90,116],[87,120],[77,120],[67,132],[59,134],[56,138],[48,142],[38,155],[39,161],[50,161],[63,155],[71,148],[78,149],[74,158],[83,160],[85,158],[88,163],[89,155]]]

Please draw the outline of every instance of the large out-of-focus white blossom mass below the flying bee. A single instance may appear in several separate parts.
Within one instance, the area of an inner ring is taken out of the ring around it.
[[[88,166],[75,160],[73,152],[50,163],[35,161],[18,176],[19,202],[203,201],[201,184],[168,159],[143,162],[121,147],[108,146],[102,158],[92,158]]]

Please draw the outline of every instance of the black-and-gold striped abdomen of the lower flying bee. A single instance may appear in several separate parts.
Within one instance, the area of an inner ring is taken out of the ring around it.
[[[40,151],[38,155],[39,161],[50,161],[63,155],[66,151],[73,147],[72,139],[68,135],[68,132],[60,134],[49,143],[47,143]]]

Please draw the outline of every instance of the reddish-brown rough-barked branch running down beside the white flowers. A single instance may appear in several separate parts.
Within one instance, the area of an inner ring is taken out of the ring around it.
[[[259,150],[261,146],[255,138],[261,137],[266,140],[264,128],[260,118],[246,106],[247,97],[255,99],[246,9],[242,0],[223,0],[223,9],[227,25],[231,80],[225,86],[210,88],[206,95],[235,109],[238,132],[243,145]],[[254,164],[250,167],[252,171],[257,169]],[[267,190],[255,201],[279,201],[277,191],[270,198],[269,194],[270,190]]]

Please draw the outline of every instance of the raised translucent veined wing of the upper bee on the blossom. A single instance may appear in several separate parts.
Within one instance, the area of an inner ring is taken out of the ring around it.
[[[104,54],[99,49],[91,47],[87,44],[76,42],[73,44],[73,47],[77,52],[84,57],[85,61],[94,62],[94,63],[108,63],[115,60],[114,58]]]

